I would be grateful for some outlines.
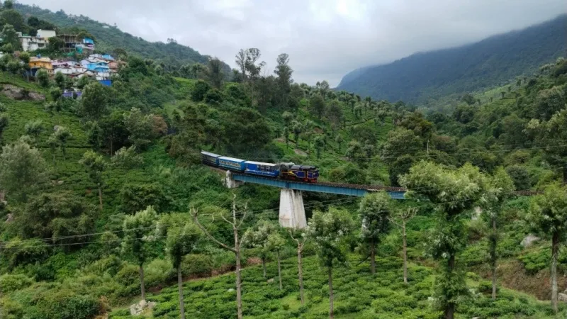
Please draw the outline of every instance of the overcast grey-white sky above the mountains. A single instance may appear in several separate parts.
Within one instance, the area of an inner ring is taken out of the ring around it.
[[[146,40],[174,38],[235,67],[257,47],[273,72],[286,52],[296,82],[339,84],[352,69],[524,28],[565,0],[19,0],[83,14]]]

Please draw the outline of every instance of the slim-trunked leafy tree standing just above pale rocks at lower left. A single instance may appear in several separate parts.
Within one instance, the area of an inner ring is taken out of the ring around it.
[[[122,230],[122,252],[128,257],[132,257],[138,265],[140,273],[140,291],[142,293],[142,300],[146,298],[146,289],[144,283],[144,264],[151,255],[150,242],[154,240],[155,236],[150,234],[153,232],[153,227],[157,213],[152,206],[147,206],[143,211],[137,212],[133,216],[126,216]]]

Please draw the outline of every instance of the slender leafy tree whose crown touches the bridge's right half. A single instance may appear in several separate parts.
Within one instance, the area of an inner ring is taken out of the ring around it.
[[[370,193],[360,202],[359,214],[362,218],[362,240],[370,248],[370,271],[376,274],[376,245],[380,237],[388,231],[391,211],[391,198],[386,191]]]

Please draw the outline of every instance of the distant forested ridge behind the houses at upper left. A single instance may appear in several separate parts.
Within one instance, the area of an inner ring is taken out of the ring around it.
[[[123,32],[116,26],[94,21],[86,16],[72,16],[67,15],[64,11],[52,12],[41,9],[38,6],[27,6],[25,4],[15,4],[14,9],[19,11],[26,19],[30,16],[35,16],[55,24],[58,28],[84,28],[96,38],[96,50],[111,52],[113,49],[120,47],[126,50],[128,54],[140,55],[141,57],[164,62],[167,65],[176,66],[193,64],[195,62],[206,63],[208,61],[208,55],[201,55],[191,47],[175,42],[149,42],[130,33]],[[225,71],[230,72],[228,65],[225,65]]]

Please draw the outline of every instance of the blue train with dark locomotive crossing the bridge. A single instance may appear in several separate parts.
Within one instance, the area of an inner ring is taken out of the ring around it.
[[[232,172],[259,175],[278,179],[290,179],[316,183],[319,178],[319,169],[313,165],[296,165],[294,163],[263,163],[247,161],[234,157],[221,156],[211,152],[201,151],[203,164],[221,167]]]

